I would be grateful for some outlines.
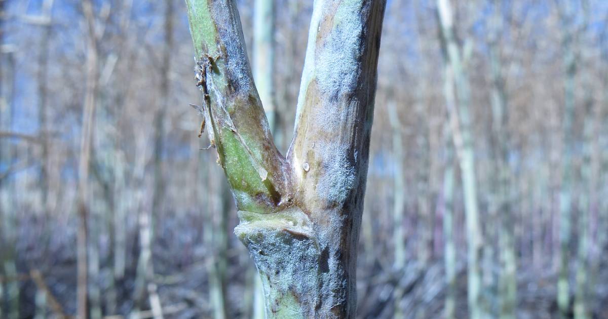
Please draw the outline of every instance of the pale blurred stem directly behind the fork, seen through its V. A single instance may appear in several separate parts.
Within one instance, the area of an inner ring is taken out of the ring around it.
[[[277,109],[274,99],[274,0],[255,0],[254,7],[254,52],[252,72],[254,75],[255,87],[260,94],[260,101],[264,106],[264,113],[268,118],[270,132],[275,135],[275,123]],[[263,319],[264,310],[264,291],[260,275],[254,275],[254,298],[252,318]]]

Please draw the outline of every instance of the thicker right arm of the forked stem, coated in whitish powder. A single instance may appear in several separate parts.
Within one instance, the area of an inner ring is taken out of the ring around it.
[[[349,201],[362,204],[384,7],[315,2],[288,159],[297,200],[320,219]]]

